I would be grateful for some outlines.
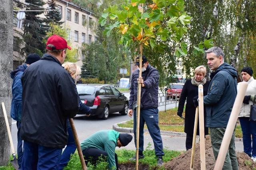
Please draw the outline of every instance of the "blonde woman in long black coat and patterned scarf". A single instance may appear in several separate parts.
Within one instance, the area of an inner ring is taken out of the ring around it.
[[[180,101],[178,106],[177,115],[182,117],[182,112],[184,109],[185,100],[186,102],[186,110],[185,110],[185,127],[184,132],[186,135],[186,150],[192,148],[193,142],[193,132],[194,132],[194,122],[195,122],[195,113],[196,107],[193,103],[193,98],[198,96],[198,86],[200,84],[204,87],[204,96],[207,94],[209,81],[206,81],[204,77],[206,75],[206,67],[198,66],[195,71],[195,76],[192,79],[186,80],[184,87],[182,88],[182,92],[180,95]],[[205,118],[206,111],[204,109],[204,135],[208,135],[208,127],[205,127]],[[197,135],[199,135],[199,123],[197,125]]]

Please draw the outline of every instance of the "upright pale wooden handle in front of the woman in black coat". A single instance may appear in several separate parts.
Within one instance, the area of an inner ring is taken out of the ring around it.
[[[198,86],[198,108],[199,108],[199,139],[200,139],[200,163],[201,170],[205,170],[205,147],[204,147],[204,88]]]

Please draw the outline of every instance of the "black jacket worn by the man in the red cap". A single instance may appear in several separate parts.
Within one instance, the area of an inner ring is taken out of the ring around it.
[[[67,118],[79,109],[74,80],[50,54],[31,64],[22,76],[22,140],[63,148],[68,141]]]

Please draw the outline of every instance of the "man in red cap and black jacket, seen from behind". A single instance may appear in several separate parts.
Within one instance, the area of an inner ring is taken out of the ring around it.
[[[22,170],[57,170],[60,164],[68,141],[66,120],[79,109],[74,80],[61,66],[67,49],[64,38],[52,35],[47,53],[22,76]]]

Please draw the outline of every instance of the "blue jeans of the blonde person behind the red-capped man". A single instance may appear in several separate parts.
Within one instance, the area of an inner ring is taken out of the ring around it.
[[[67,166],[68,161],[70,160],[70,155],[74,154],[76,151],[76,142],[74,139],[74,135],[72,132],[72,128],[70,126],[70,122],[68,121],[68,143],[64,151],[62,152],[60,159],[59,169],[62,170],[65,166]]]

